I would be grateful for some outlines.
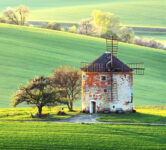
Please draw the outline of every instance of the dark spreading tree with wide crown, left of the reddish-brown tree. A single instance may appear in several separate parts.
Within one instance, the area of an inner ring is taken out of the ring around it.
[[[21,86],[13,95],[12,106],[16,107],[22,102],[33,104],[38,108],[39,117],[42,116],[43,106],[57,105],[65,103],[65,98],[62,97],[62,90],[51,86],[49,77],[36,77],[30,80],[26,86]]]

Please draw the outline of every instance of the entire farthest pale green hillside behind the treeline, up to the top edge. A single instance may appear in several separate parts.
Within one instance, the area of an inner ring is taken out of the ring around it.
[[[94,9],[113,12],[126,25],[165,27],[166,1],[163,0],[5,0],[0,10],[24,4],[31,9],[29,20],[78,22]]]

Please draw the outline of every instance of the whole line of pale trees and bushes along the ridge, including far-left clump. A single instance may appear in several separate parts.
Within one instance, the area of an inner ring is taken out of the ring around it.
[[[17,8],[8,7],[3,11],[0,22],[33,26],[27,23],[29,13],[29,8],[26,6],[21,5]],[[93,11],[90,18],[80,20],[78,26],[73,25],[63,28],[60,23],[49,22],[39,27],[101,38],[110,38],[113,36],[121,42],[166,50],[166,45],[162,42],[158,42],[154,39],[142,39],[141,37],[135,36],[132,28],[122,24],[119,16],[111,12],[102,12],[100,10]]]

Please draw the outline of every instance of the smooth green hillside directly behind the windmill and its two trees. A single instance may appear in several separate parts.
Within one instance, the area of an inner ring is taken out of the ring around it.
[[[59,65],[79,69],[105,52],[105,40],[77,34],[0,24],[0,107],[9,107],[20,84],[49,75]],[[165,105],[166,52],[119,44],[124,62],[145,62],[145,75],[134,77],[135,105]]]

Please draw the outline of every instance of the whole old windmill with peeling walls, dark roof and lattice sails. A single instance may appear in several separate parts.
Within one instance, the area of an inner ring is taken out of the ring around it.
[[[81,63],[82,111],[132,112],[133,74],[144,74],[144,63],[124,64],[117,58],[118,41],[106,39],[106,52]]]

